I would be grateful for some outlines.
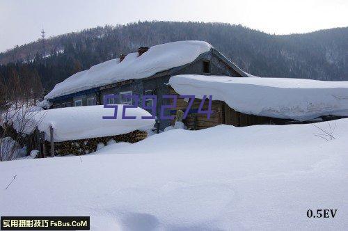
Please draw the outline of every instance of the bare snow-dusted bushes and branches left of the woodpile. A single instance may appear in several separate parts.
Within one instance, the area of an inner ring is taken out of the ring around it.
[[[40,122],[40,116],[38,120],[32,118],[42,111],[35,106],[42,95],[42,87],[38,75],[32,74],[19,78],[14,70],[9,78],[0,78],[0,161],[25,155],[24,134]]]

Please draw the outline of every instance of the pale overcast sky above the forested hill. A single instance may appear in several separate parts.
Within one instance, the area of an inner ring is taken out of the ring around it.
[[[0,0],[0,51],[40,38],[145,20],[226,22],[267,33],[348,26],[347,0]]]

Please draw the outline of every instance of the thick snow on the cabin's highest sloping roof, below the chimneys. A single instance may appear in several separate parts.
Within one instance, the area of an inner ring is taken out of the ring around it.
[[[150,47],[141,56],[138,56],[138,53],[131,53],[122,62],[119,58],[115,58],[94,65],[89,70],[77,72],[56,84],[45,99],[77,93],[117,81],[150,77],[157,72],[191,63],[200,54],[210,49],[212,45],[203,41],[178,41],[156,45]]]

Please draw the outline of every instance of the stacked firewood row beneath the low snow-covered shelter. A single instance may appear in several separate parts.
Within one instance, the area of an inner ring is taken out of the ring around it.
[[[105,136],[105,137],[97,137],[97,138],[86,138],[75,141],[63,141],[59,143],[54,143],[55,154],[88,154],[90,152],[95,152],[97,150],[97,145],[102,143],[106,145],[108,141],[114,140],[116,142],[128,142],[128,143],[136,143],[138,141],[143,140],[148,136],[147,132],[141,132],[136,130],[134,132],[129,132],[127,134],[120,134],[117,136]],[[46,142],[46,150],[50,150],[49,142]]]

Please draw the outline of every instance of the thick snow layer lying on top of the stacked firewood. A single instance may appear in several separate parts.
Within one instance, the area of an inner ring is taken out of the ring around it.
[[[49,127],[54,129],[54,141],[70,141],[82,138],[113,136],[125,134],[134,130],[151,129],[155,120],[142,120],[141,116],[151,116],[141,108],[127,109],[125,116],[136,116],[135,120],[122,120],[123,105],[118,106],[116,120],[104,120],[103,116],[113,116],[114,109],[104,109],[102,105],[76,106],[61,109],[49,109],[27,114],[27,126],[24,133],[30,134],[38,126],[40,132],[45,132],[49,141]],[[14,127],[18,127],[22,120],[15,120]],[[23,131],[23,130],[22,130]]]

